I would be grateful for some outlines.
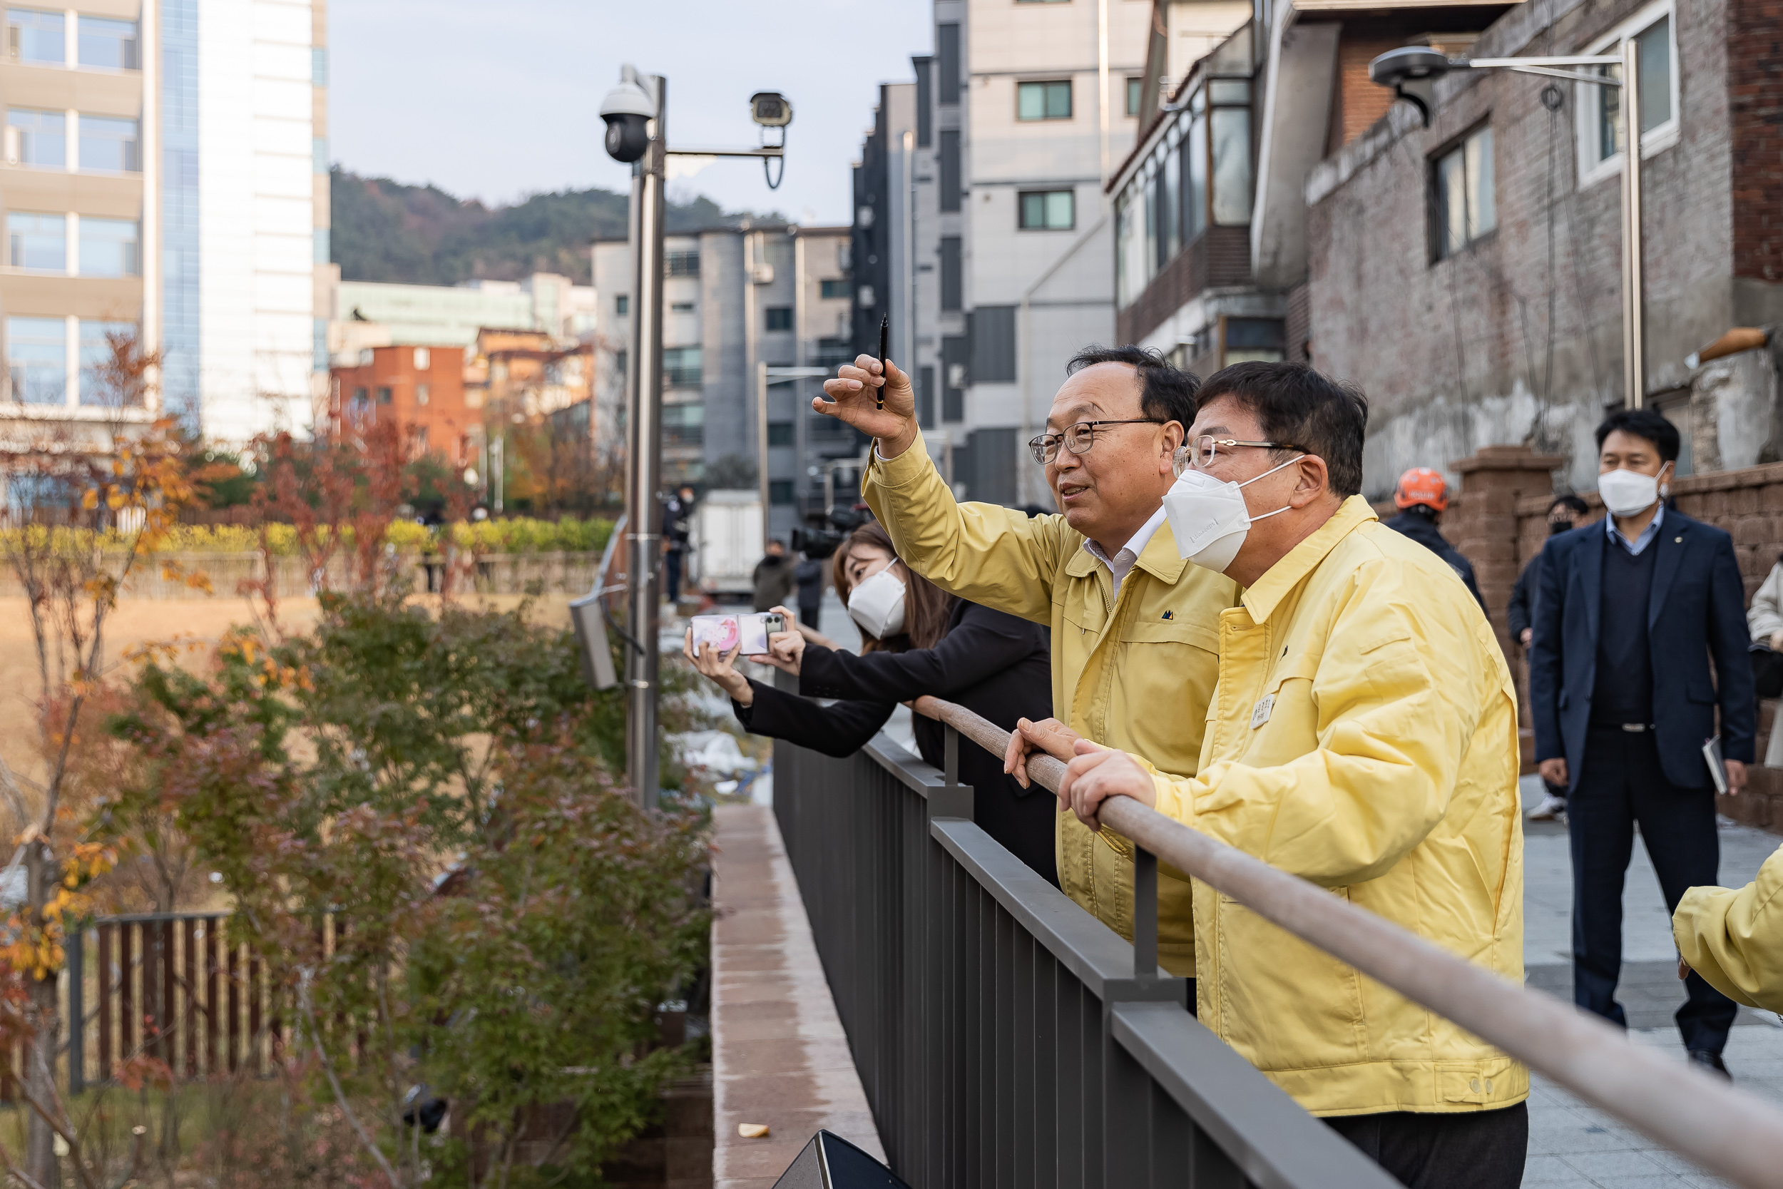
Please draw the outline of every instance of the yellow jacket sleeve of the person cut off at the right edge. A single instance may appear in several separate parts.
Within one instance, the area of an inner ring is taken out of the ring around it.
[[[1783,847],[1744,888],[1683,893],[1672,938],[1708,986],[1737,1004],[1783,1013]]]

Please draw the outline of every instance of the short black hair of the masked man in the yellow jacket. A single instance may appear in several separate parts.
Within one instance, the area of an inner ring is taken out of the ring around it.
[[[1207,376],[1200,403],[1232,398],[1257,415],[1262,435],[1325,460],[1339,499],[1362,492],[1368,396],[1307,364],[1232,364]]]

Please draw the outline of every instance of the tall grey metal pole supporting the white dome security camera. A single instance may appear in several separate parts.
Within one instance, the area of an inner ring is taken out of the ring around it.
[[[663,508],[656,499],[661,472],[663,419],[663,178],[667,164],[669,82],[640,78],[656,102],[656,132],[631,166],[631,396],[626,426],[626,783],[640,806],[656,804],[661,786],[656,756],[656,647],[661,601]]]

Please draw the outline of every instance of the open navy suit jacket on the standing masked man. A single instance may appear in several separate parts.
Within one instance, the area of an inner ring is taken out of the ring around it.
[[[1598,679],[1605,533],[1598,521],[1548,538],[1532,624],[1535,759],[1564,756],[1574,788],[1585,768],[1585,729]],[[1722,756],[1753,761],[1758,711],[1746,654],[1746,586],[1733,538],[1674,508],[1665,510],[1647,549],[1658,549],[1647,595],[1647,642],[1660,767],[1680,788],[1705,788],[1710,775],[1703,743],[1715,734],[1717,706]]]

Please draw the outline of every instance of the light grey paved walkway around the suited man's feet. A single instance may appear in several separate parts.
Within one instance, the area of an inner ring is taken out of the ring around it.
[[[1524,800],[1539,795],[1533,777],[1524,777]],[[1783,838],[1742,825],[1721,832],[1721,882],[1738,886]],[[1573,863],[1565,827],[1530,822],[1524,843],[1524,943],[1523,961],[1530,986],[1571,998],[1573,995]],[[1623,895],[1623,984],[1617,996],[1628,1013],[1630,1032],[1642,1045],[1669,1050],[1681,1062],[1683,1045],[1671,1014],[1683,1004],[1678,954],[1658,877],[1644,847],[1635,847]],[[1724,1054],[1735,1082],[1783,1105],[1783,1023],[1771,1013],[1740,1009]],[[1535,1077],[1530,1093],[1530,1162],[1524,1185],[1555,1189],[1681,1189],[1722,1185],[1644,1136],[1592,1107],[1553,1082]]]

